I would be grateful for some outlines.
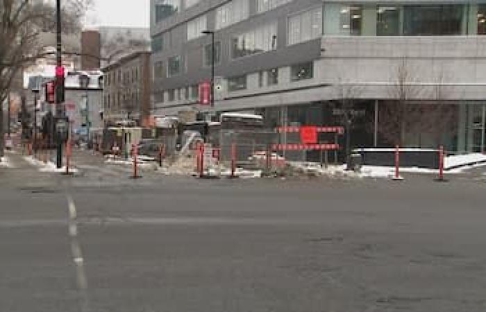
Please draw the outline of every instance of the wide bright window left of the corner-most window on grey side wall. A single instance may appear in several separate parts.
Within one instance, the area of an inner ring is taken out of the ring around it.
[[[231,40],[232,58],[242,58],[277,49],[277,24],[255,28]]]

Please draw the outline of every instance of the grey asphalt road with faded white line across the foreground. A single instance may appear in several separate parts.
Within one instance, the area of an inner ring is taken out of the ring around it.
[[[0,311],[486,311],[483,181],[134,181],[11,158]]]

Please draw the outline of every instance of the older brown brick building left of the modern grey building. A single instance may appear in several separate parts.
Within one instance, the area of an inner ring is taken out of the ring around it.
[[[125,55],[103,68],[104,119],[106,124],[134,120],[140,125],[151,115],[151,53]]]

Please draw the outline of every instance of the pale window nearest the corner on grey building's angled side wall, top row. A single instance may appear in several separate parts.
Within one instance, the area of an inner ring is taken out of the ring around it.
[[[322,8],[315,8],[289,17],[287,33],[289,44],[297,44],[321,37]]]

